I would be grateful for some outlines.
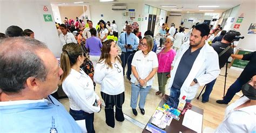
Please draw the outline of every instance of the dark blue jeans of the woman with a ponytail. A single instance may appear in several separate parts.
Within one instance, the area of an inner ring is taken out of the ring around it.
[[[92,132],[94,133],[94,126],[93,126],[93,121],[94,121],[94,113],[86,113],[83,110],[69,110],[70,115],[75,119],[75,121],[77,120],[85,120],[85,127],[87,132]]]

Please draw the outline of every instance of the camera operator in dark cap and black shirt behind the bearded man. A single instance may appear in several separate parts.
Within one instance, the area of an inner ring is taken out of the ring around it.
[[[223,37],[223,39],[221,39],[221,41],[218,41],[216,43],[212,43],[212,45],[211,45],[213,47],[213,49],[219,55],[219,67],[220,68],[225,66],[228,58],[230,57],[230,55],[233,52],[233,49],[230,46],[230,44],[234,40],[235,36],[236,36],[235,32],[229,31],[224,35],[224,37]],[[202,95],[202,97],[203,97],[202,102],[203,103],[209,101],[209,97],[210,97],[210,94],[212,92],[215,81],[216,81],[216,79],[214,79],[212,82],[206,84],[205,92]]]

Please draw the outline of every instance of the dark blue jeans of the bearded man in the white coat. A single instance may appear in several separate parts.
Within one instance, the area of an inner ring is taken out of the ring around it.
[[[177,108],[179,104],[179,95],[180,95],[180,89],[171,87],[170,96],[169,96],[169,100],[167,101],[167,104],[169,104],[169,106],[173,108]],[[186,99],[186,102],[191,102],[191,101],[192,99],[190,100]]]

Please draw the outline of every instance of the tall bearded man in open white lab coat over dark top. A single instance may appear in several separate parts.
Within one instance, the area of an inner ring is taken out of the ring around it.
[[[186,102],[191,102],[199,86],[211,82],[220,73],[218,54],[205,41],[209,32],[207,24],[194,26],[190,41],[180,47],[173,60],[168,86],[173,107],[178,106],[183,96]]]

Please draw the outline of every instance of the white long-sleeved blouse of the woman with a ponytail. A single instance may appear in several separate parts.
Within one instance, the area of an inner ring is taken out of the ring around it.
[[[62,88],[69,97],[72,110],[83,110],[90,114],[100,110],[99,106],[93,106],[96,100],[99,100],[99,96],[94,91],[93,82],[82,69],[77,72],[71,68],[70,74],[62,83]]]

